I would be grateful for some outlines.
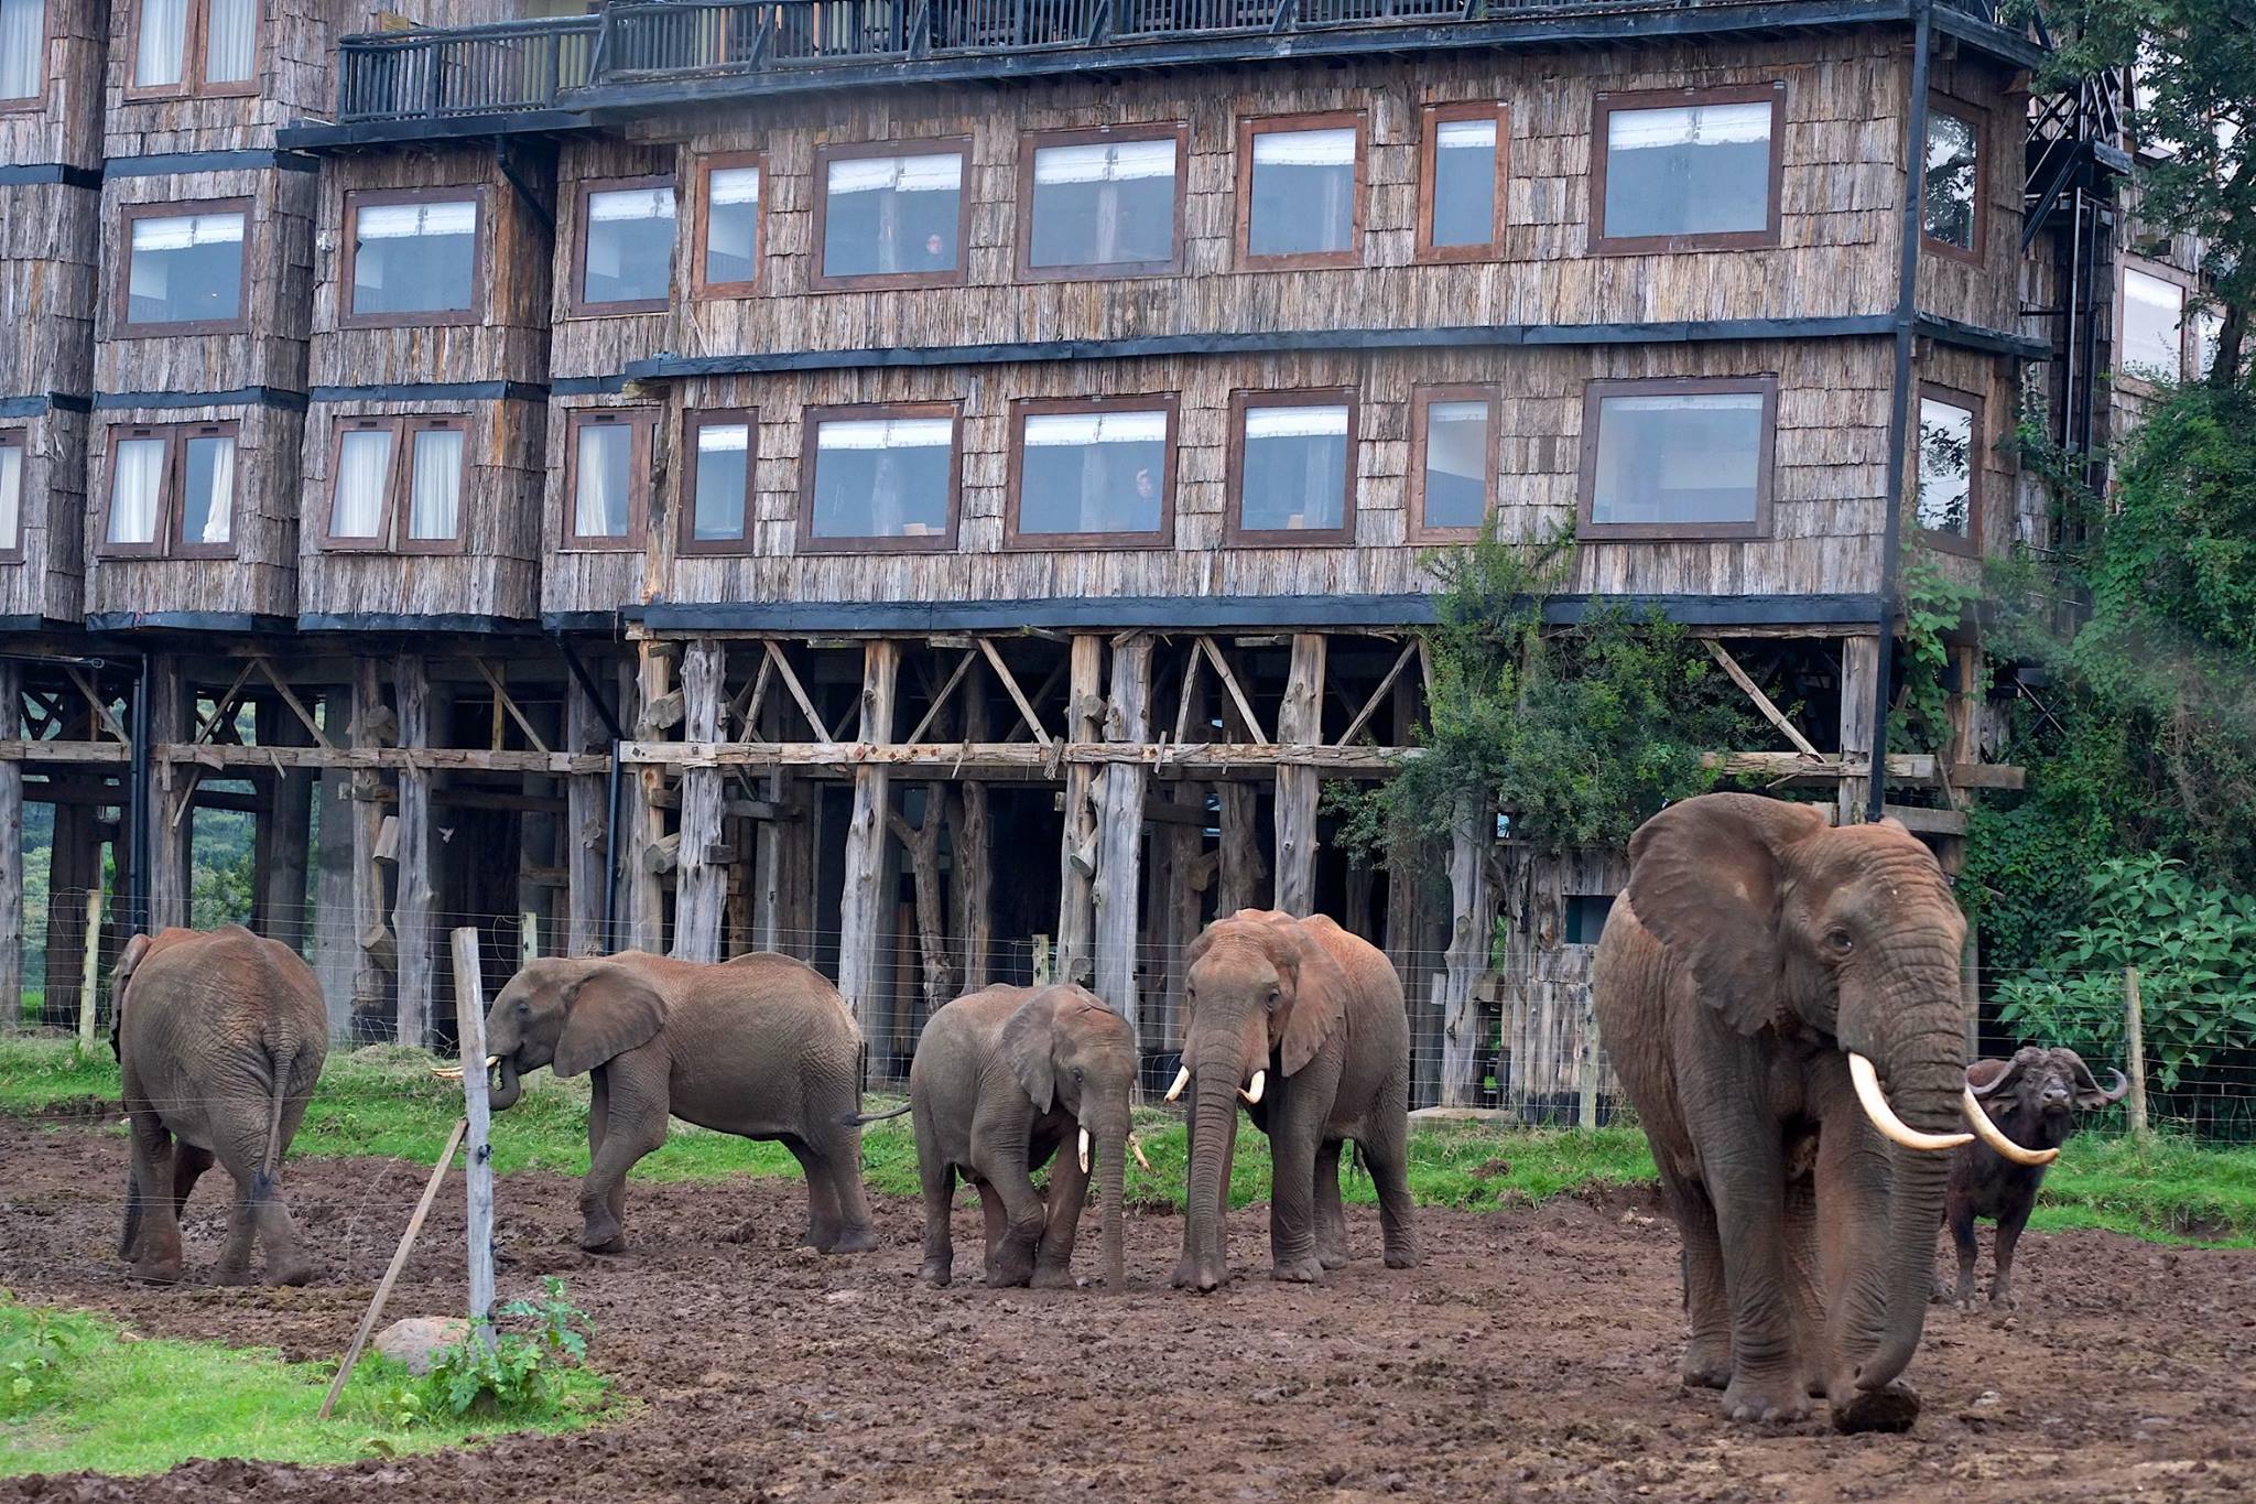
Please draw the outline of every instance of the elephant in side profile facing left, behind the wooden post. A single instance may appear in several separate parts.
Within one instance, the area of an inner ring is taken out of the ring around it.
[[[580,1247],[616,1254],[627,1170],[666,1143],[677,1116],[744,1139],[776,1139],[808,1175],[808,1240],[823,1254],[878,1247],[862,1200],[862,1035],[814,967],[756,952],[697,965],[643,952],[535,961],[485,1015],[499,1055],[494,1109],[523,1076],[593,1071]]]

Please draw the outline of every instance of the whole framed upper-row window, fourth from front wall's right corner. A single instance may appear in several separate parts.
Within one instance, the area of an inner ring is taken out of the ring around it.
[[[1029,277],[1182,268],[1184,126],[1029,135],[1017,264]]]

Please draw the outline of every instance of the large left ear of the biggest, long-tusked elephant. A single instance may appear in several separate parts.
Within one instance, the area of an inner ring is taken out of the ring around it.
[[[1825,828],[1814,805],[1701,794],[1629,839],[1631,909],[1742,1035],[1771,1024],[1782,1003],[1782,857]]]

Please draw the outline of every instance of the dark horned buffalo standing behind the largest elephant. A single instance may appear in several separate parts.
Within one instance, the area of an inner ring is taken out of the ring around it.
[[[2008,1139],[2053,1159],[2076,1132],[2078,1112],[2098,1112],[2130,1091],[2123,1071],[2109,1071],[2114,1087],[2100,1087],[2091,1067],[2071,1049],[2024,1046],[2012,1060],[1976,1060],[1967,1067],[1967,1089],[1990,1109]],[[1958,1247],[1958,1290],[1936,1285],[1936,1299],[1974,1303],[1974,1218],[1997,1220],[1997,1279],[1990,1306],[2012,1306],[2012,1249],[2028,1227],[2028,1213],[2044,1186],[2042,1164],[2012,1164],[1988,1143],[1967,1143],[1951,1164],[1951,1193],[1942,1220]]]

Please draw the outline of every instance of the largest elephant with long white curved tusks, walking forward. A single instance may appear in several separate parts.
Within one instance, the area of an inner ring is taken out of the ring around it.
[[[1965,920],[1902,825],[1706,794],[1629,843],[1593,1001],[1683,1231],[1683,1382],[1904,1430],[1965,1089]]]

